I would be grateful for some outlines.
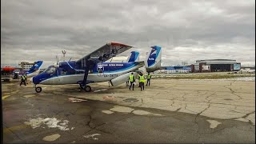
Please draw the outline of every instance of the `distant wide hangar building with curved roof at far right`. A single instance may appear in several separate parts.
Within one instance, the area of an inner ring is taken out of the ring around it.
[[[215,72],[215,71],[238,71],[241,69],[241,62],[232,59],[205,59],[198,60],[191,65],[192,72]]]

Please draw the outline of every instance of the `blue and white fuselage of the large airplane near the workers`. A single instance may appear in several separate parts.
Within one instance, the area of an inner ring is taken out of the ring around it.
[[[138,70],[144,63],[139,62],[103,62],[89,71],[86,83],[106,82],[122,74]],[[84,78],[84,70],[79,70],[75,62],[61,62],[59,67],[49,66],[42,74],[33,78],[34,84],[64,85],[78,84]]]

